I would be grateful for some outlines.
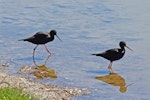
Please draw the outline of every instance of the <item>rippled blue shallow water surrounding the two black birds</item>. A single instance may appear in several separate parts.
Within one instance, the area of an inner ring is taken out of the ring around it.
[[[10,74],[22,66],[34,65],[35,45],[20,42],[38,31],[56,29],[57,38],[48,43],[54,55],[46,63],[57,73],[56,79],[43,82],[68,87],[88,88],[90,94],[77,100],[148,100],[150,98],[148,0],[8,0],[0,1],[0,62],[9,63]],[[109,75],[109,61],[92,53],[118,47],[126,41],[134,52],[113,63],[113,70],[125,80],[126,92],[119,91],[98,76]],[[36,63],[44,64],[48,56],[44,46],[35,54]]]

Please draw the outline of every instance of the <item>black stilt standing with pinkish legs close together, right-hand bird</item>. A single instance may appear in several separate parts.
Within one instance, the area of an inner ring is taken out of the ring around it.
[[[92,55],[101,56],[101,57],[109,60],[110,64],[108,66],[108,69],[110,72],[112,72],[112,62],[115,60],[119,60],[124,56],[124,54],[125,54],[125,48],[124,47],[127,47],[129,50],[133,51],[132,49],[130,49],[126,45],[126,43],[124,41],[121,41],[119,43],[119,45],[121,48],[114,48],[114,49],[110,49],[110,50],[107,50],[107,51],[102,52],[102,53],[92,54]]]

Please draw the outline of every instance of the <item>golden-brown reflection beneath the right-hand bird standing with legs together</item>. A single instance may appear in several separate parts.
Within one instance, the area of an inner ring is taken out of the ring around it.
[[[119,74],[117,73],[110,73],[108,75],[105,75],[105,76],[97,76],[95,77],[97,80],[101,80],[105,83],[108,83],[112,86],[119,86],[120,89],[119,91],[121,93],[125,93],[127,91],[127,87],[132,85],[132,84],[129,84],[126,86],[126,81],[123,77],[121,77]]]

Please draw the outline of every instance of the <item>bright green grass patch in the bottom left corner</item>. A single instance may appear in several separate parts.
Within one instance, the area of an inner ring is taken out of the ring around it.
[[[0,88],[0,100],[39,100],[30,94],[25,94],[22,89],[5,87]]]

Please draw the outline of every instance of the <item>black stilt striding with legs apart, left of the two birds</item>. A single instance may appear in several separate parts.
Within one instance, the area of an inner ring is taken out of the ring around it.
[[[33,44],[36,44],[35,48],[33,49],[33,60],[34,60],[34,52],[35,49],[38,47],[38,45],[44,45],[46,51],[51,55],[50,50],[46,47],[46,43],[51,42],[54,40],[54,36],[57,36],[57,32],[55,30],[51,30],[50,32],[37,32],[33,36],[26,38],[26,39],[21,39],[19,41],[28,41]],[[62,41],[58,36],[57,38]]]

